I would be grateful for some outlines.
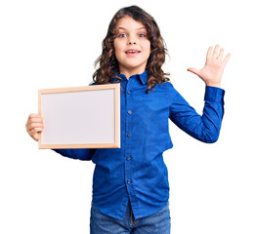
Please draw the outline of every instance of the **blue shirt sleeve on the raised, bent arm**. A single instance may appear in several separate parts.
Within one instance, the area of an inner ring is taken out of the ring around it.
[[[207,143],[218,140],[224,115],[225,91],[217,87],[206,86],[202,115],[171,85],[169,93],[169,118],[190,136]]]

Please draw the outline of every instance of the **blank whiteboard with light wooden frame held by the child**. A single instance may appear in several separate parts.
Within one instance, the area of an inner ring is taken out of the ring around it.
[[[120,84],[38,91],[39,148],[120,148]]]

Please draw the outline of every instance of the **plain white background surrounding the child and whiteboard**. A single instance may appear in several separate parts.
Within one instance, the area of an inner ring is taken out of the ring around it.
[[[112,16],[137,4],[167,44],[165,71],[201,113],[209,46],[232,57],[223,77],[219,141],[205,144],[170,121],[172,234],[256,233],[255,5],[253,1],[58,1],[0,3],[0,232],[89,233],[94,164],[38,150],[25,132],[37,90],[88,85]]]

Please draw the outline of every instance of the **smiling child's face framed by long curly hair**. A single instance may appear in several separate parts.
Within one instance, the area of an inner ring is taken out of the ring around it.
[[[113,46],[120,73],[127,78],[143,73],[150,55],[150,42],[145,25],[130,17],[124,17],[118,20],[116,28],[118,33]]]

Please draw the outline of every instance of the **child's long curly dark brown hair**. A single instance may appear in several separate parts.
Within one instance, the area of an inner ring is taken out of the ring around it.
[[[119,66],[118,60],[114,55],[113,40],[117,36],[117,21],[126,16],[131,17],[133,20],[141,21],[148,32],[150,55],[146,70],[148,72],[147,94],[149,94],[149,90],[152,90],[157,83],[161,84],[161,82],[167,82],[170,80],[165,77],[165,75],[169,75],[169,73],[164,73],[161,68],[165,61],[165,54],[168,55],[168,52],[155,20],[138,6],[130,6],[120,9],[110,21],[107,29],[107,36],[102,44],[102,55],[95,61],[95,67],[99,64],[99,68],[94,72],[93,80],[95,85],[108,84],[111,78],[121,80],[120,77],[116,76],[116,74],[119,74]]]

